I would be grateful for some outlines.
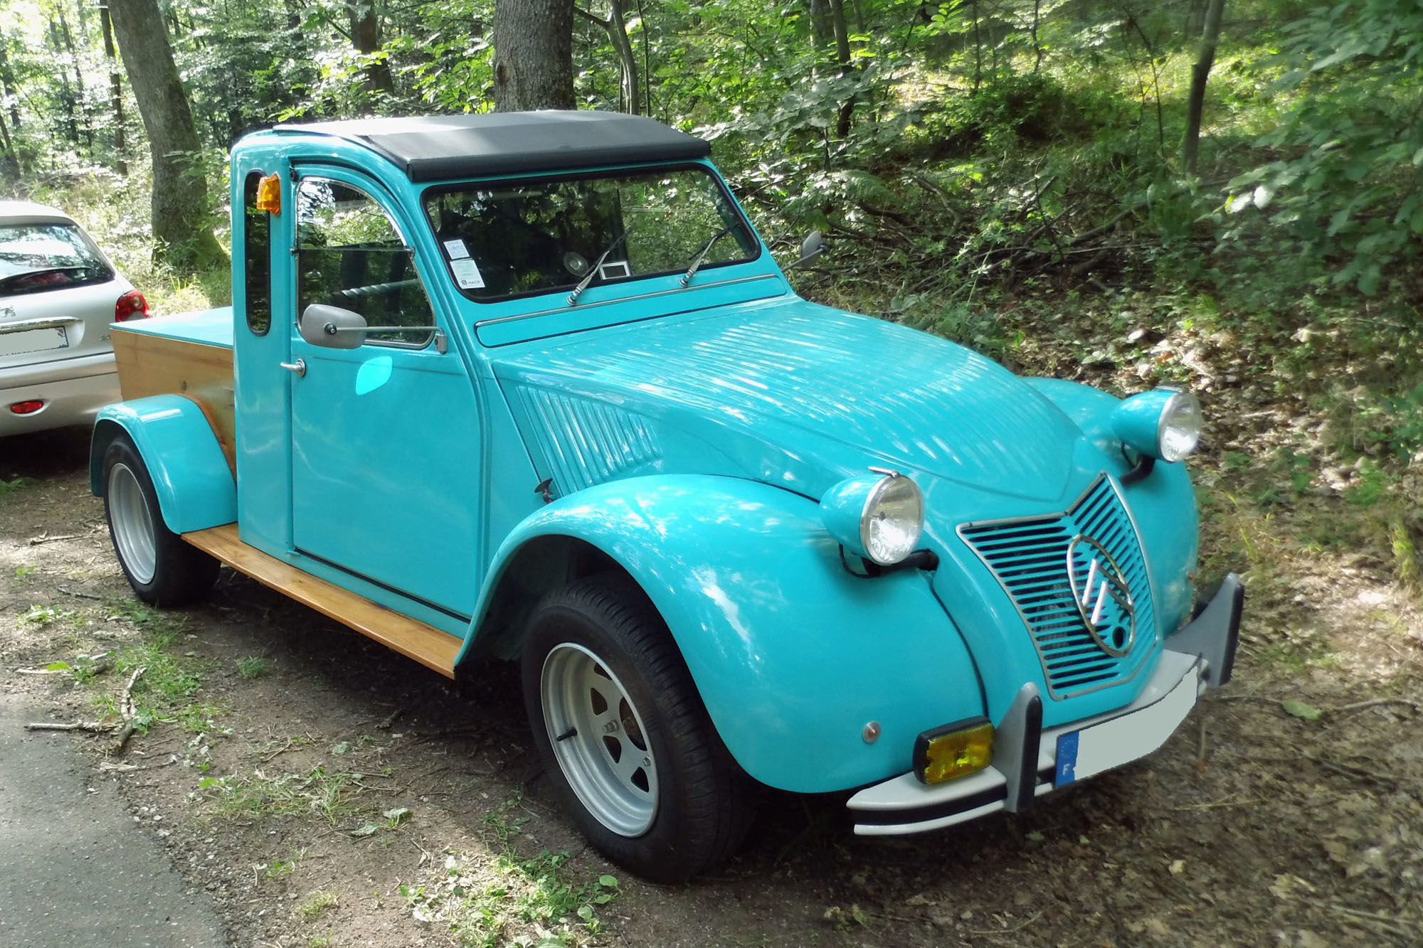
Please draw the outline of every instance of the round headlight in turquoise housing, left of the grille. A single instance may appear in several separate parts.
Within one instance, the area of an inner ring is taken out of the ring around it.
[[[902,474],[851,477],[825,491],[820,507],[841,547],[881,567],[912,554],[924,531],[924,494]]]

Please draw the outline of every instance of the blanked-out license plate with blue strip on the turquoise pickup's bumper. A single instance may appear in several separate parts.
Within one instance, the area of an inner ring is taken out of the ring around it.
[[[1060,787],[1120,767],[1164,744],[1195,707],[1198,669],[1198,665],[1192,665],[1180,685],[1153,705],[1091,727],[1059,734],[1053,786]]]

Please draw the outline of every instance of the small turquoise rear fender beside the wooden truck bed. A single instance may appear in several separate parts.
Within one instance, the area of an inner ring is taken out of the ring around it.
[[[164,522],[175,534],[231,524],[238,485],[208,417],[192,399],[161,394],[100,410],[90,441],[90,490],[104,495],[104,453],[120,431],[148,467]]]

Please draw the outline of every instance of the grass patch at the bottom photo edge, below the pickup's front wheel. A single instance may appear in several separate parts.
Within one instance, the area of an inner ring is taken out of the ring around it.
[[[401,885],[414,917],[444,922],[461,945],[586,945],[602,931],[598,910],[619,895],[613,875],[578,880],[568,853],[521,855],[514,840],[524,818],[511,818],[508,800],[484,818],[492,853],[445,857],[444,874],[424,885]]]

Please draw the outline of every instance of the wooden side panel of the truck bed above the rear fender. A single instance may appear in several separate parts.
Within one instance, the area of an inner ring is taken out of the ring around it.
[[[118,326],[114,327],[112,339],[118,387],[124,400],[181,394],[196,401],[218,436],[228,467],[236,475],[232,350],[186,339],[124,332]]]

